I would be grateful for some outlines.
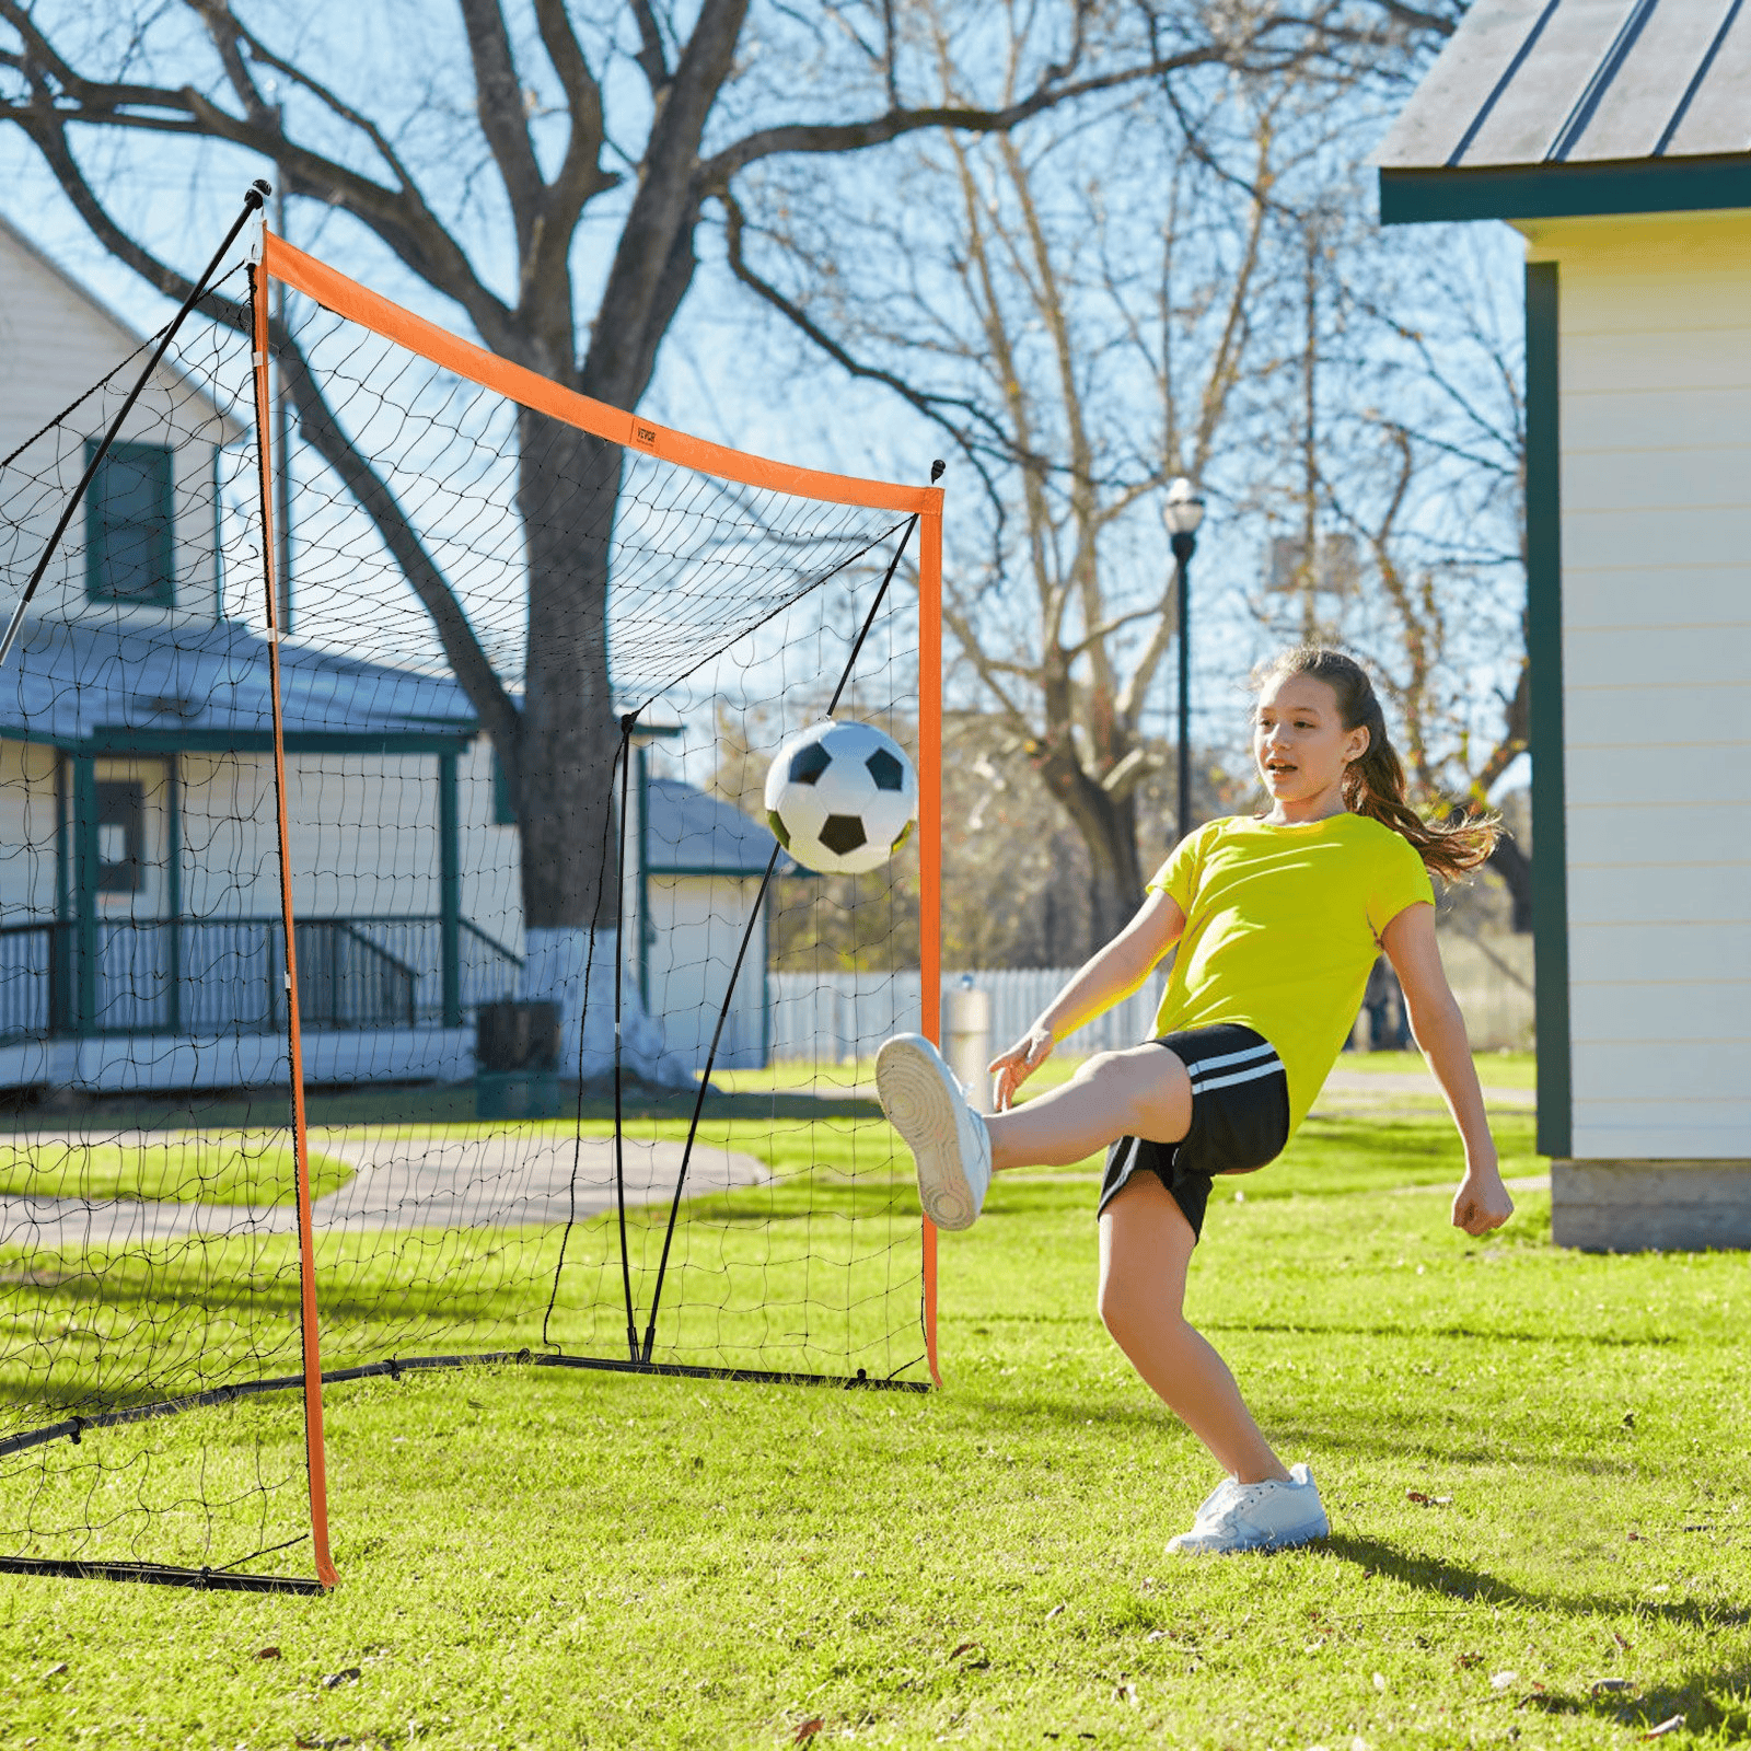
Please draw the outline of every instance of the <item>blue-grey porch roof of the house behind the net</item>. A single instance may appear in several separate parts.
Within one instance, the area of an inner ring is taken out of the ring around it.
[[[476,732],[454,679],[284,639],[287,748],[420,751]],[[121,630],[26,622],[0,671],[0,735],[81,751],[252,749],[273,734],[268,644],[221,622]]]

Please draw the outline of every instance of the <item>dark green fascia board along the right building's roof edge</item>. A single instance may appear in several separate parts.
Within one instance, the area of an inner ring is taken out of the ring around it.
[[[1380,222],[1581,219],[1751,207],[1751,158],[1632,158],[1595,165],[1382,170]]]

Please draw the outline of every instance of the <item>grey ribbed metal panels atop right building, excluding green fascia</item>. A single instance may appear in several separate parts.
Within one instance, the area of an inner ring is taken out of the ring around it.
[[[1751,156],[1747,0],[1476,0],[1373,163]]]

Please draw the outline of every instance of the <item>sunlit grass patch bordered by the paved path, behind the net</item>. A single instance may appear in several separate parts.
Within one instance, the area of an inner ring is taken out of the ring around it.
[[[345,1161],[310,1150],[315,1198],[354,1175]],[[46,1138],[0,1142],[0,1194],[28,1198],[138,1198],[152,1203],[284,1205],[296,1163],[289,1143],[233,1131],[228,1136],[152,1136],[140,1143]]]

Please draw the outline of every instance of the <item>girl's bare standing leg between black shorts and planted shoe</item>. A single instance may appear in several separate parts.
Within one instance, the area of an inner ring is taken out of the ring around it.
[[[1227,1364],[1185,1324],[1185,1268],[1196,1245],[1166,1185],[1136,1173],[1100,1219],[1100,1317],[1145,1385],[1224,1471],[1241,1483],[1287,1481]]]

